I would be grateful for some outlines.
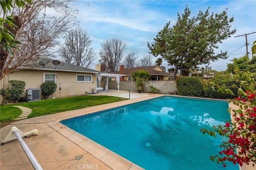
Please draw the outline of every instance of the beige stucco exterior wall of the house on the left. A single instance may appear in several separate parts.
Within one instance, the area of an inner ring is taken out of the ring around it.
[[[26,87],[23,96],[26,96],[26,89],[40,89],[40,85],[44,83],[44,73],[56,73],[57,89],[51,97],[66,97],[70,95],[81,95],[86,91],[91,93],[95,89],[95,75],[93,73],[78,73],[65,71],[32,71],[22,70],[6,75],[1,80],[1,88],[6,89],[9,86],[9,80],[25,81]],[[92,82],[76,82],[76,75],[92,75]],[[61,91],[59,90],[61,87]],[[41,94],[41,99],[44,97]],[[2,103],[2,97],[1,97]]]

